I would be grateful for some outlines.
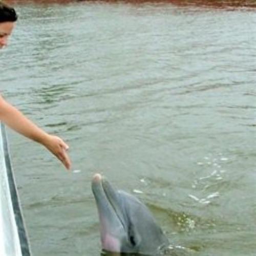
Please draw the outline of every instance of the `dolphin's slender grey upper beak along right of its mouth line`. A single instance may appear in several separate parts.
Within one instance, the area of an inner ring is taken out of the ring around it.
[[[124,218],[122,218],[123,213],[122,213],[122,210],[120,209],[120,207],[118,205],[118,202],[117,202],[118,195],[117,195],[116,191],[104,179],[102,180],[101,185],[102,185],[104,194],[105,194],[106,198],[108,199],[108,202],[110,203],[112,209],[114,210],[114,212],[116,214],[116,217],[120,221],[123,229],[126,230],[126,225],[124,223]]]

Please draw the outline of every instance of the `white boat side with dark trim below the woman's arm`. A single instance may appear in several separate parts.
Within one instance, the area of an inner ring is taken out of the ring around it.
[[[3,123],[0,126],[0,255],[31,256]]]

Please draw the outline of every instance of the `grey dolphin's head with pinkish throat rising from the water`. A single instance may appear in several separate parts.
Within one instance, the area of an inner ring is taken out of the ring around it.
[[[151,212],[136,197],[116,190],[99,174],[93,177],[92,190],[104,250],[158,255],[169,245]]]

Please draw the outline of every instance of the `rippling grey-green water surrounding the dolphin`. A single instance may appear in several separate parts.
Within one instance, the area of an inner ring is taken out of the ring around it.
[[[96,172],[146,203],[173,246],[255,255],[255,10],[103,2],[17,10],[1,91],[64,138],[73,161],[66,172],[9,131],[33,255],[100,255]]]

